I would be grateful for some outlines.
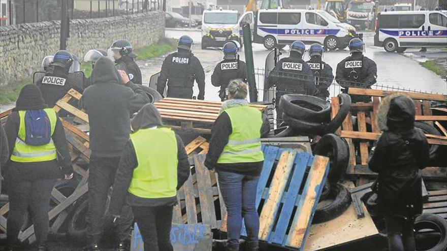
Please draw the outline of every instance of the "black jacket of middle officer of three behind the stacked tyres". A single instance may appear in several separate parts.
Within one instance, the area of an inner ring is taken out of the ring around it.
[[[329,97],[328,88],[331,86],[334,80],[334,74],[332,73],[332,67],[322,61],[321,59],[311,58],[306,62],[313,72],[313,80],[316,84],[315,96]]]

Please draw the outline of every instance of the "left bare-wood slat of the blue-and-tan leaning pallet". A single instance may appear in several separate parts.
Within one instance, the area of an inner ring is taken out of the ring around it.
[[[259,239],[268,240],[279,209],[279,202],[292,171],[297,152],[283,151],[270,184],[269,194],[259,216]]]

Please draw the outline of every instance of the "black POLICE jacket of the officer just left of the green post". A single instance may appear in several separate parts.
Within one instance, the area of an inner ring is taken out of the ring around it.
[[[225,96],[225,89],[231,80],[242,79],[247,82],[247,69],[245,62],[238,59],[224,59],[220,61],[214,68],[211,75],[211,84],[220,86],[220,97]]]

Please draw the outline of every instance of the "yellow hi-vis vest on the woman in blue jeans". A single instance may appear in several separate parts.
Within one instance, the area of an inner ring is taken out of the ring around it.
[[[264,160],[261,150],[262,113],[248,105],[226,109],[232,133],[217,163],[248,163]]]

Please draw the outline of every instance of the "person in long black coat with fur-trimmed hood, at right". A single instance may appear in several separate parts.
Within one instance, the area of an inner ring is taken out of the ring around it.
[[[403,94],[382,99],[377,112],[377,125],[384,132],[368,165],[378,172],[374,190],[390,251],[415,250],[414,218],[422,213],[419,170],[430,157],[424,132],[414,127],[414,114],[413,100]]]

